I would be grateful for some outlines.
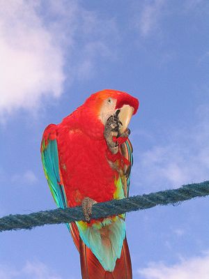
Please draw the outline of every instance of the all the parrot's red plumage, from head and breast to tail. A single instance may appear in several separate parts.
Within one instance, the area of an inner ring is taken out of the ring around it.
[[[84,197],[90,197],[96,202],[114,199],[115,181],[121,174],[116,167],[111,166],[109,161],[117,162],[122,172],[125,172],[124,167],[127,170],[130,165],[130,158],[124,147],[127,138],[118,138],[121,147],[116,154],[109,151],[104,138],[104,124],[100,120],[100,110],[104,100],[109,97],[116,99],[115,109],[130,105],[134,108],[134,114],[137,112],[139,101],[136,98],[125,92],[104,90],[93,94],[84,105],[65,117],[60,124],[49,125],[43,135],[44,146],[47,146],[49,140],[56,140],[61,179],[59,183],[64,187],[67,206],[80,205]],[[116,141],[117,138],[114,140]],[[127,190],[125,191],[127,195]],[[91,220],[89,225],[93,222],[94,220]],[[123,241],[121,258],[116,260],[114,271],[109,272],[103,269],[97,257],[82,241],[77,225],[70,224],[70,229],[80,252],[82,278],[132,278],[126,238]]]

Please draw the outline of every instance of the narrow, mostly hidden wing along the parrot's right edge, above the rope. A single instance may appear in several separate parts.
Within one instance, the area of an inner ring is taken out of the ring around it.
[[[133,148],[130,140],[127,138],[127,140],[121,144],[121,152],[122,155],[125,157],[125,159],[129,162],[129,165],[124,165],[124,174],[126,178],[126,197],[129,195],[130,190],[130,172],[133,165]]]

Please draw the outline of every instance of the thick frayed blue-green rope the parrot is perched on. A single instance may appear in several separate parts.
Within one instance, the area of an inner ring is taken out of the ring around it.
[[[209,181],[192,183],[178,189],[164,190],[125,199],[113,199],[110,202],[94,204],[91,218],[98,219],[130,211],[150,209],[156,205],[176,204],[194,197],[205,197],[207,195],[209,195]],[[0,232],[13,229],[32,229],[42,225],[70,223],[79,220],[84,220],[81,206],[23,215],[8,215],[0,218]]]

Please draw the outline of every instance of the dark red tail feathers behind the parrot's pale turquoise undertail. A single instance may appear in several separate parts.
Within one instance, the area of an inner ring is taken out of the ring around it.
[[[117,259],[113,272],[103,269],[98,259],[81,238],[79,239],[79,252],[83,279],[132,279],[130,252],[126,238],[123,241],[121,257]]]

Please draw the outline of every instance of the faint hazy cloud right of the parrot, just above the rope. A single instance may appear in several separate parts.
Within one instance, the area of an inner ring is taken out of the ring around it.
[[[165,144],[153,145],[138,156],[134,154],[134,184],[149,192],[208,179],[208,108],[199,107],[197,115],[194,126],[168,131],[164,135]],[[140,169],[140,179],[137,169]]]

